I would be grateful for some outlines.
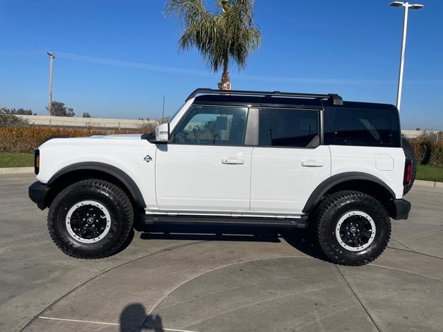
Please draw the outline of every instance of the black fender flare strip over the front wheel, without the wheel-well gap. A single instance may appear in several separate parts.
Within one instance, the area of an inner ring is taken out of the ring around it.
[[[95,171],[104,172],[106,174],[109,174],[111,176],[114,176],[118,179],[125,187],[127,187],[127,190],[129,191],[129,194],[131,194],[132,198],[134,199],[134,202],[136,205],[138,205],[140,208],[146,208],[145,200],[143,199],[143,196],[141,194],[140,189],[138,189],[138,186],[132,180],[131,176],[127,175],[125,172],[123,172],[120,168],[109,165],[107,163],[99,163],[99,162],[83,162],[83,163],[75,163],[66,167],[63,167],[58,172],[56,172],[48,181],[48,185],[51,185],[54,183],[54,181],[57,180],[57,178],[60,178],[60,176],[73,172],[78,170],[88,170],[93,169]]]

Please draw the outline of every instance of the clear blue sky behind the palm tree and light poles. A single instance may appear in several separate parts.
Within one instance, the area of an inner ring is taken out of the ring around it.
[[[214,1],[208,0],[208,6]],[[255,1],[262,46],[230,68],[233,89],[339,93],[395,103],[403,10],[390,1]],[[443,129],[443,1],[409,16],[404,129]],[[183,30],[164,0],[0,0],[0,107],[44,114],[48,55],[54,100],[99,118],[174,113],[190,91],[216,88],[196,51],[179,52]],[[111,60],[111,61],[109,61]]]

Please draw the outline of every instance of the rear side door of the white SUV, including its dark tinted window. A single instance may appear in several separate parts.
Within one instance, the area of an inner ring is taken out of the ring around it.
[[[262,108],[253,149],[251,210],[300,215],[311,192],[330,176],[320,145],[320,110]]]

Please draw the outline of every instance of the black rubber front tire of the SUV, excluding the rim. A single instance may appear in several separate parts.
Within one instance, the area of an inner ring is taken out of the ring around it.
[[[96,201],[109,211],[109,232],[96,243],[81,243],[67,230],[66,214],[80,201]],[[129,197],[120,187],[100,179],[89,179],[69,185],[51,203],[48,230],[54,243],[66,255],[82,259],[99,259],[114,255],[125,245],[132,232],[134,210]]]

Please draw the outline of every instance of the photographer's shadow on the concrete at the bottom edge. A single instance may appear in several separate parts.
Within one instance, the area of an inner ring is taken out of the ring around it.
[[[154,332],[165,331],[159,315],[147,315],[143,304],[129,304],[120,314],[120,332],[141,330]]]

